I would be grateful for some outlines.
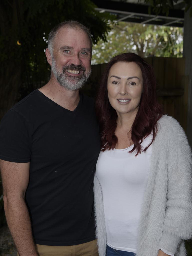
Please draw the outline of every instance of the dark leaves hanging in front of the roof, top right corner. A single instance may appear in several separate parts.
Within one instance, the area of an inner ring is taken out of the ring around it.
[[[138,0],[138,3],[142,0]],[[144,0],[146,4],[149,5],[148,13],[151,14],[151,11],[158,15],[159,13],[164,13],[166,16],[169,15],[169,10],[174,9],[174,3],[177,3],[178,0]],[[185,12],[190,8],[190,17],[192,17],[192,0],[183,0],[185,4]]]

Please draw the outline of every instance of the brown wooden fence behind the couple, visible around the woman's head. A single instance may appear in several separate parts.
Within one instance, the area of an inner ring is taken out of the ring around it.
[[[164,114],[177,119],[186,132],[188,78],[185,76],[185,59],[148,57],[146,61],[154,68],[158,101],[163,105]],[[105,67],[106,64],[92,66],[90,80],[83,89],[86,94],[94,96]]]

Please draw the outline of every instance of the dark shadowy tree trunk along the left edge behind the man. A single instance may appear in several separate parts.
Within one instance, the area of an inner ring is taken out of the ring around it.
[[[18,1],[2,1],[0,3],[0,29],[1,40],[4,51],[1,53],[3,59],[0,70],[0,120],[3,115],[16,103],[18,88],[21,84],[22,60],[18,60],[21,49],[17,45],[18,38]],[[13,32],[13,36],[7,36],[7,30]],[[3,55],[4,54],[4,55]],[[17,55],[18,54],[18,55]]]

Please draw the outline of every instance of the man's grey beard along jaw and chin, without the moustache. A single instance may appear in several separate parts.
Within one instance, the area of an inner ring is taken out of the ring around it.
[[[83,73],[79,77],[69,76],[65,73],[66,68],[63,69],[63,72],[60,73],[60,71],[56,67],[56,61],[54,58],[52,58],[51,70],[55,78],[57,79],[58,83],[61,86],[71,91],[80,89],[87,82],[87,79],[91,74],[91,69],[90,69],[90,71],[87,74]]]

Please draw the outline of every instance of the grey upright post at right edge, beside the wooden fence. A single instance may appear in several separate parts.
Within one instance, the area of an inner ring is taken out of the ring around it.
[[[183,42],[185,76],[188,80],[187,137],[192,147],[192,17],[189,16],[189,11],[185,13]]]

